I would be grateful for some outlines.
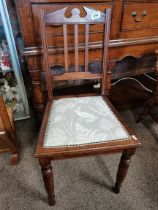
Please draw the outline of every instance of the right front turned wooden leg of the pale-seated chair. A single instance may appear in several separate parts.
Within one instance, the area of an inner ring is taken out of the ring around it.
[[[135,153],[135,149],[126,150],[125,152],[122,153],[118,171],[117,171],[116,183],[115,183],[115,187],[114,187],[115,193],[120,192],[122,183],[127,175],[129,164],[131,162],[131,157],[134,153]]]

